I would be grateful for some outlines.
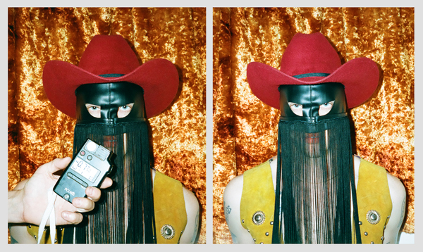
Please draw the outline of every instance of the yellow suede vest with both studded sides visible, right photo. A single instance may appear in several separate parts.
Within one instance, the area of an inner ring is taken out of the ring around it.
[[[271,244],[275,192],[269,160],[247,170],[243,177],[241,224],[250,232],[256,244]],[[362,159],[358,177],[357,206],[362,244],[381,244],[392,211],[386,170]],[[264,216],[264,221],[259,225],[253,222],[257,213],[262,213],[261,216]],[[355,243],[354,232],[353,243]]]

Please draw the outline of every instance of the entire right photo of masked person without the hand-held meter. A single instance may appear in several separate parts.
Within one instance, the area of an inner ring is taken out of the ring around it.
[[[415,232],[415,9],[213,9],[213,243]]]

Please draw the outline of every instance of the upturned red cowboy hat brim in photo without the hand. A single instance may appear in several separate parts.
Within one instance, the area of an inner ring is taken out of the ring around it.
[[[297,79],[259,62],[247,65],[247,81],[253,94],[267,105],[280,109],[278,87],[286,84],[321,84],[339,82],[345,86],[348,108],[367,101],[379,84],[379,68],[369,58],[354,58],[326,77]]]

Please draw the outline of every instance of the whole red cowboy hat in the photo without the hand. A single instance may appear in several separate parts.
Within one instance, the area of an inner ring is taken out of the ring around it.
[[[348,108],[354,108],[376,90],[379,68],[364,57],[341,65],[338,53],[323,34],[297,33],[283,53],[281,70],[252,62],[247,65],[247,80],[258,99],[278,109],[281,85],[340,82],[345,86]]]

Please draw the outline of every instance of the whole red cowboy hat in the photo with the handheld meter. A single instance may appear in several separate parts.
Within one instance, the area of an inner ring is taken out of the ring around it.
[[[144,89],[147,118],[168,107],[179,84],[173,63],[157,58],[140,65],[134,51],[120,35],[94,36],[78,66],[63,61],[47,62],[42,81],[51,104],[72,118],[76,118],[75,89],[82,84],[131,82],[139,85]]]

